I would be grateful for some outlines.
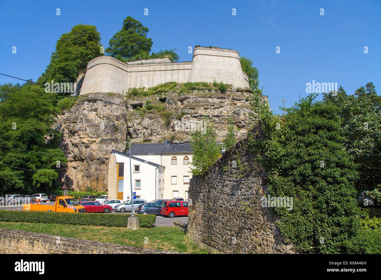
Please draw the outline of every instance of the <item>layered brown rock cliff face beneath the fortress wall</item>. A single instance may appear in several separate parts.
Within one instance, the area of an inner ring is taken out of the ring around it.
[[[224,93],[195,90],[186,94],[167,91],[140,97],[114,93],[80,96],[57,120],[57,129],[62,133],[61,148],[69,160],[66,186],[75,190],[90,187],[106,190],[107,165],[112,149],[125,152],[125,142],[129,139],[136,142],[162,142],[165,139],[173,143],[189,142],[192,124],[202,127],[204,115],[213,119],[216,128],[223,129],[227,129],[231,117],[237,125],[237,138],[242,139],[250,128],[249,95],[247,90]],[[217,129],[216,132],[221,141],[226,130]],[[60,177],[63,179],[64,175],[62,173]]]

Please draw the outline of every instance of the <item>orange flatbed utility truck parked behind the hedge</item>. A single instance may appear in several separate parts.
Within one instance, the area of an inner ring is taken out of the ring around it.
[[[85,207],[80,205],[74,197],[68,195],[56,197],[54,205],[24,204],[22,209],[26,211],[85,212]]]

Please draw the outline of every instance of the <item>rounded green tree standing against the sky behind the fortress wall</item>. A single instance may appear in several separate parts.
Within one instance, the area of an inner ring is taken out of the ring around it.
[[[120,55],[123,59],[149,56],[152,39],[147,38],[148,31],[140,21],[128,16],[122,29],[110,39],[106,52],[114,58]]]

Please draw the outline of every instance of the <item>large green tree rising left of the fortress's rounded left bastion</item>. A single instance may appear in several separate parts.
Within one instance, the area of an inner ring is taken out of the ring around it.
[[[51,55],[50,64],[38,79],[38,83],[74,83],[80,70],[101,53],[101,36],[93,25],[79,24],[72,27],[58,39],[56,51]]]

